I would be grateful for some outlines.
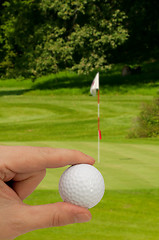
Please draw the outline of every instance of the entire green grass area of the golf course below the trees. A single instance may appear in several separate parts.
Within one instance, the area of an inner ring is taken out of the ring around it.
[[[122,78],[121,66],[100,74],[101,162],[95,166],[106,184],[89,223],[27,233],[17,239],[159,239],[159,138],[128,139],[142,102],[157,95],[158,62],[143,73]],[[97,160],[97,98],[89,96],[93,79],[59,73],[37,79],[0,80],[0,143],[78,149]],[[48,169],[31,205],[61,201],[58,181],[64,171]]]

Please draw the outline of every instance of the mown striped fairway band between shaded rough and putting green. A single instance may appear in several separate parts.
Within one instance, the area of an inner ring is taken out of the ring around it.
[[[101,96],[102,141],[126,139],[143,101],[152,96]],[[96,141],[97,98],[5,96],[0,99],[0,141]]]

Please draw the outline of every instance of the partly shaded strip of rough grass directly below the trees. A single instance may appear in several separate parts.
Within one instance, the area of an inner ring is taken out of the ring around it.
[[[107,95],[156,95],[159,91],[159,61],[141,64],[138,75],[121,76],[124,65],[112,65],[107,71],[100,71],[100,91]],[[96,72],[78,75],[74,72],[60,72],[36,79],[0,80],[0,96],[5,95],[88,95]],[[10,88],[12,86],[12,88]]]

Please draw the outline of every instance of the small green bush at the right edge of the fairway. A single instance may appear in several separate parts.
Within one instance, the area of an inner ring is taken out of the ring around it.
[[[159,135],[159,98],[144,103],[129,137],[156,137]]]

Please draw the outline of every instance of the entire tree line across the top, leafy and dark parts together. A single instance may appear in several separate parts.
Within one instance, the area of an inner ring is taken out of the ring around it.
[[[0,75],[33,77],[157,55],[157,0],[1,0]]]

